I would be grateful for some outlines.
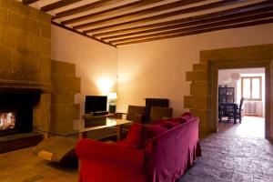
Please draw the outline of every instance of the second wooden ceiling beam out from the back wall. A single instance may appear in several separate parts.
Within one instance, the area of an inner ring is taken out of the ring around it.
[[[177,28],[175,30],[167,30],[165,32],[160,32],[160,33],[154,33],[154,34],[149,34],[149,35],[139,35],[139,36],[133,36],[133,37],[128,37],[128,38],[118,38],[116,40],[111,40],[108,43],[110,44],[116,44],[120,42],[127,42],[127,41],[134,41],[134,40],[139,40],[139,39],[147,39],[147,38],[153,38],[157,36],[162,36],[162,35],[176,35],[180,33],[186,33],[186,32],[192,32],[192,31],[197,31],[197,30],[202,30],[202,29],[207,29],[210,27],[217,27],[221,25],[234,25],[234,24],[239,24],[239,23],[244,23],[248,22],[251,20],[258,20],[258,19],[263,19],[263,18],[268,18],[272,17],[273,18],[273,13],[269,12],[267,14],[261,14],[261,15],[249,15],[246,17],[239,17],[235,19],[229,19],[225,21],[220,21],[220,22],[215,22],[215,23],[209,23],[205,25],[195,25],[195,26],[190,26],[190,27],[182,27],[182,28]]]

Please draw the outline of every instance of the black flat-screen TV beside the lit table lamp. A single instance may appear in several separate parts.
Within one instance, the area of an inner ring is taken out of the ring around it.
[[[106,111],[107,96],[86,96],[86,113]]]

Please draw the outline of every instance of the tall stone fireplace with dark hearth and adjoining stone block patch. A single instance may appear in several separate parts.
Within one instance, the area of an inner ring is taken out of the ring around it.
[[[74,64],[51,60],[50,39],[50,15],[16,0],[0,0],[0,114],[15,117],[14,127],[0,130],[0,148],[5,138],[25,133],[75,133],[80,78]]]

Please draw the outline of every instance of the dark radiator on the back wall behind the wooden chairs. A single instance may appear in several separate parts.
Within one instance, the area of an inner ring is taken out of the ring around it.
[[[162,106],[162,107],[168,107],[168,99],[167,98],[146,98],[146,116],[148,123],[150,120],[150,113],[151,113],[151,107],[152,106]]]

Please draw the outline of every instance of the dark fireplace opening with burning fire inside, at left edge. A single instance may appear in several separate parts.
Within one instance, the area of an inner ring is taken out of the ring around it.
[[[33,108],[39,99],[38,93],[1,93],[0,136],[32,132]]]

